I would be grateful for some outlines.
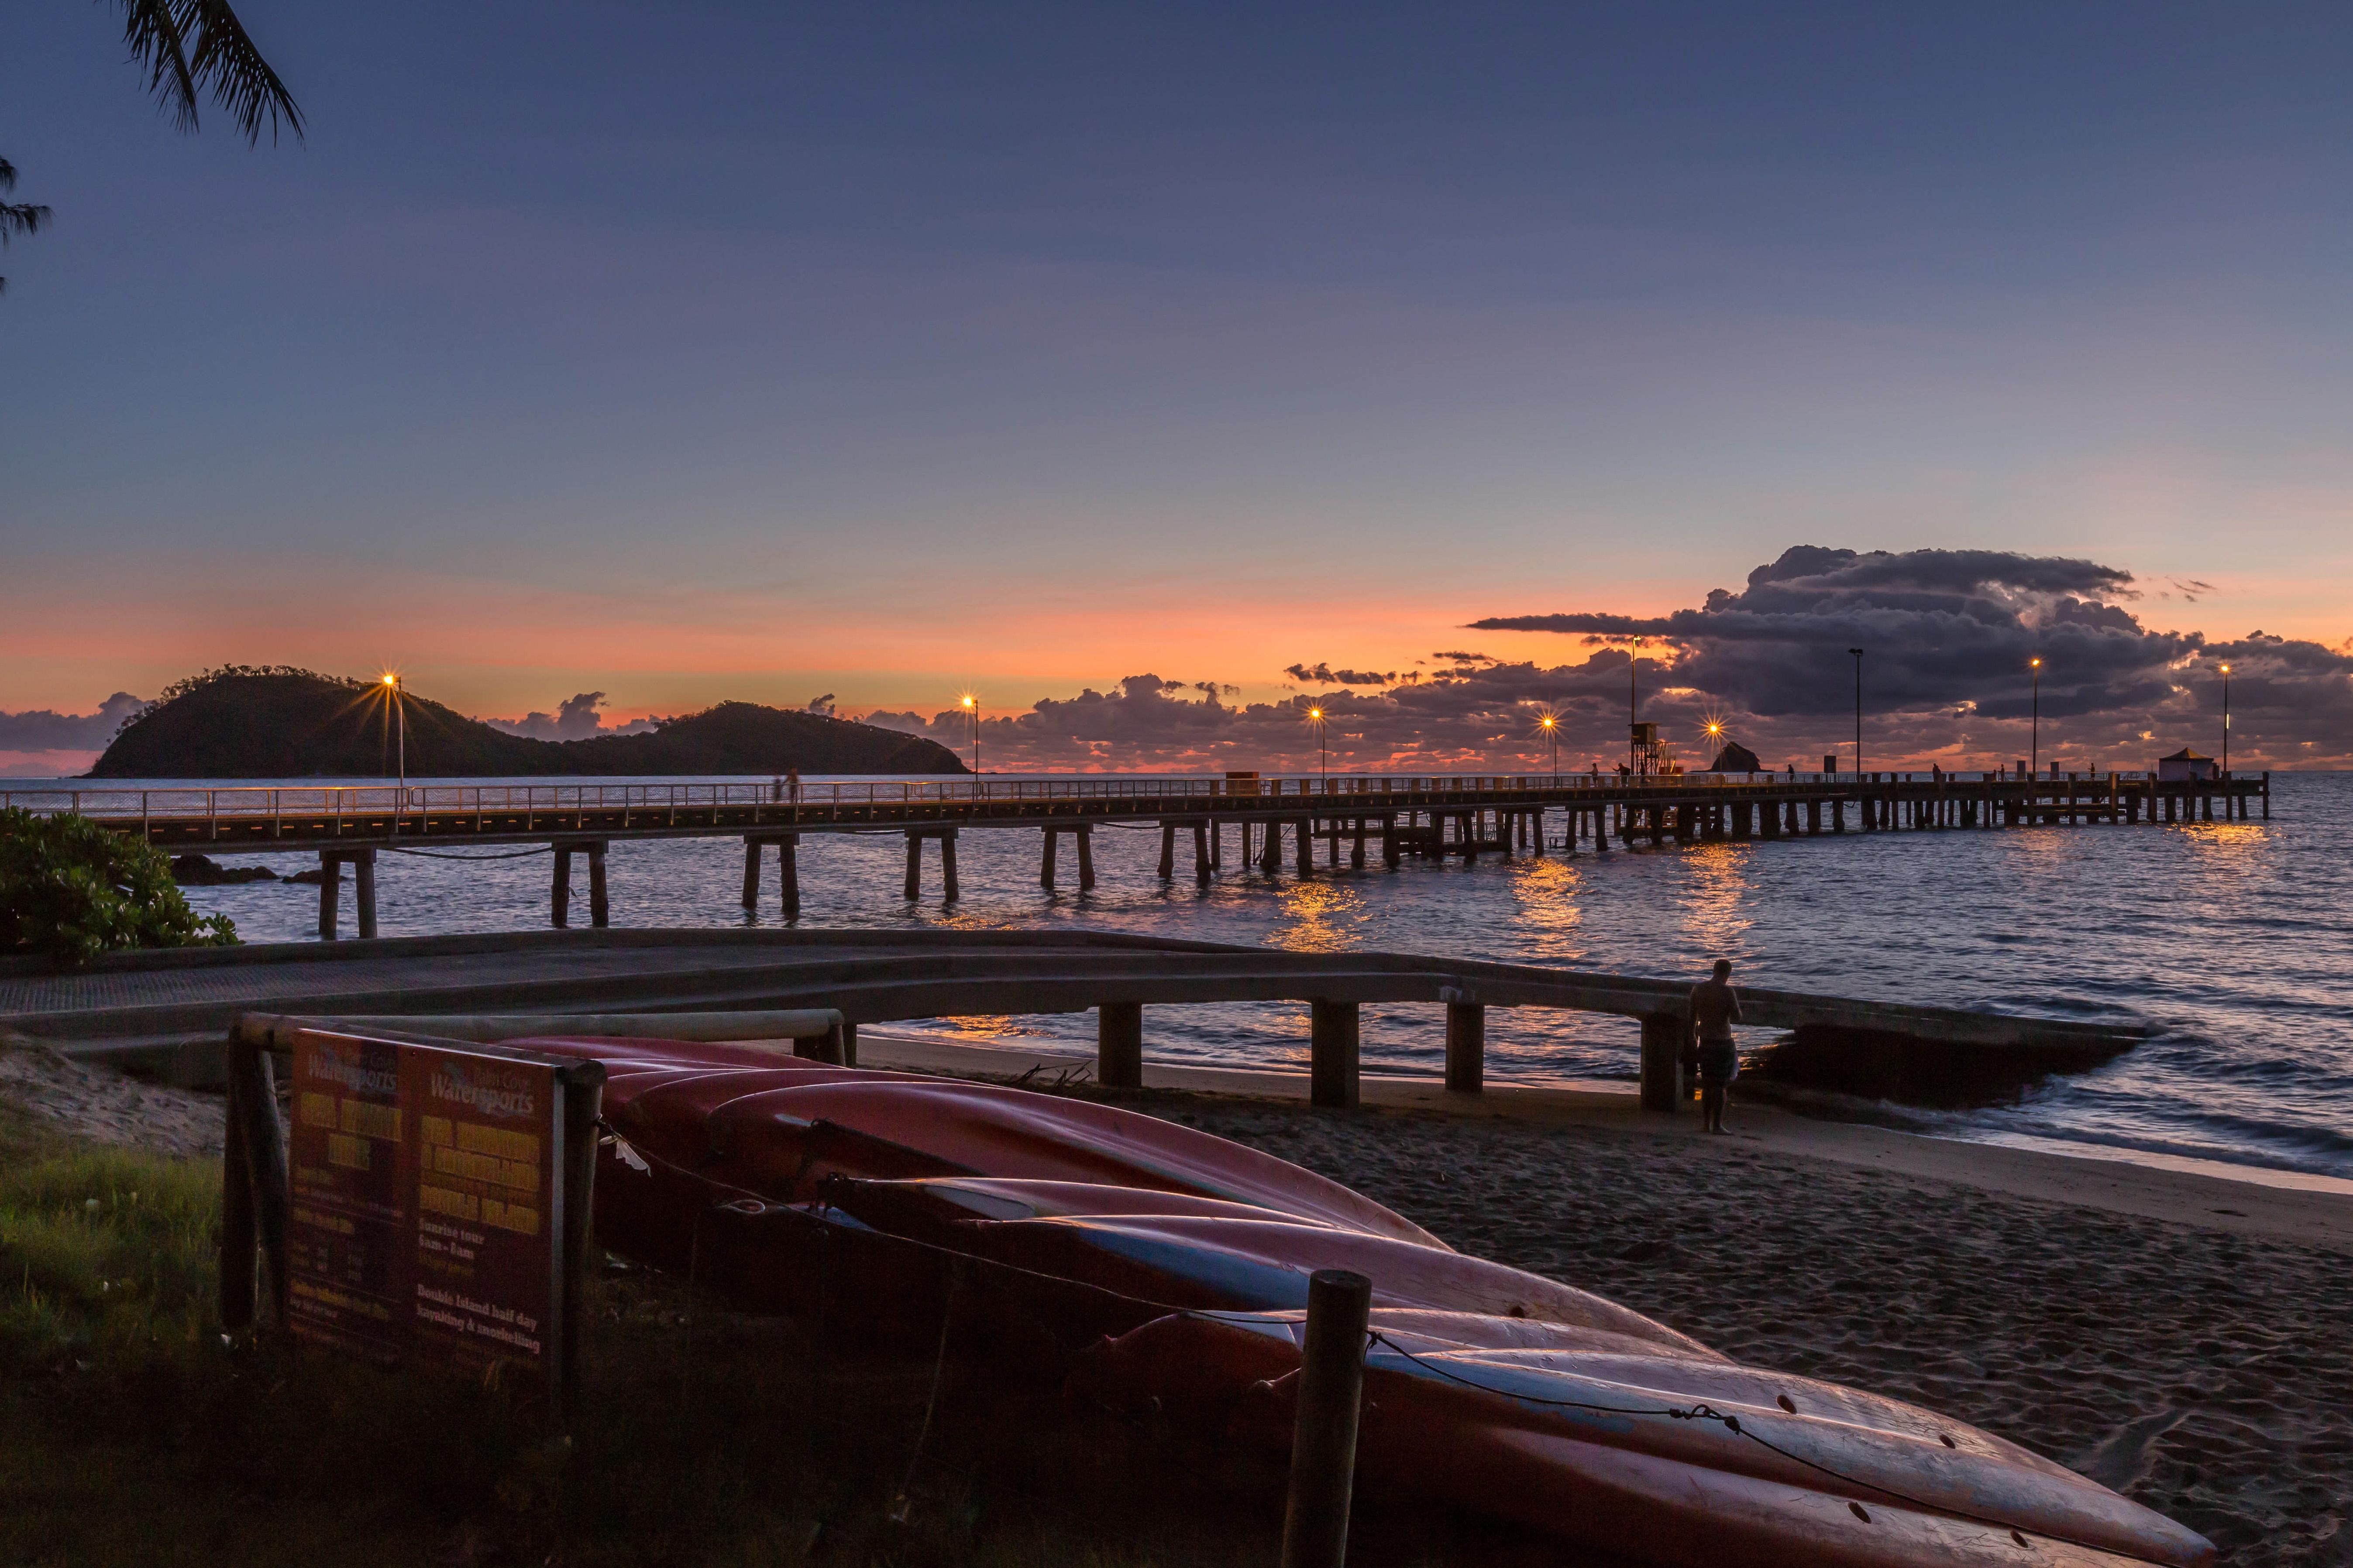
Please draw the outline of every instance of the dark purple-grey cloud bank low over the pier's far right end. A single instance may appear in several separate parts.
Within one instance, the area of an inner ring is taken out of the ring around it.
[[[1306,686],[1299,696],[1247,705],[1221,701],[1231,689],[1217,682],[1132,675],[1108,691],[984,717],[981,764],[1313,769],[1320,736],[1334,771],[1541,771],[1558,733],[1565,769],[1609,766],[1626,755],[1633,701],[1692,766],[1715,750],[1704,731],[1711,719],[1769,766],[1814,769],[1826,752],[1852,766],[1857,646],[1864,759],[1875,769],[1991,769],[2026,757],[2033,658],[2042,661],[2045,762],[2139,769],[2181,745],[2219,752],[2228,663],[2233,766],[2353,764],[2353,651],[2264,632],[2148,630],[2129,609],[2139,592],[2129,571],[2073,557],[1798,545],[1751,571],[1741,590],[1720,588],[1666,616],[1579,609],[1466,628],[1574,637],[1579,654],[1565,663],[1454,649],[1431,656],[1440,668],[1398,677],[1301,661],[1282,672]],[[1322,726],[1311,708],[1322,710]],[[1544,715],[1555,731],[1539,726]],[[868,722],[960,755],[972,748],[962,710]]]

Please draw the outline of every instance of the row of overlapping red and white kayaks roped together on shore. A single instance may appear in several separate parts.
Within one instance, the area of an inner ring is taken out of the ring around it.
[[[904,1342],[967,1312],[1080,1396],[1282,1453],[1308,1274],[1346,1267],[1367,1481],[1649,1563],[2214,1561],[2017,1443],[1739,1366],[1209,1133],[748,1046],[518,1044],[607,1067],[600,1241],[755,1307]]]

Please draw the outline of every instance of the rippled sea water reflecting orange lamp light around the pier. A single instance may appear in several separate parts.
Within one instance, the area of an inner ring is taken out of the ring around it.
[[[311,780],[315,783],[315,780]],[[546,783],[546,780],[536,780]],[[24,788],[9,780],[12,790]],[[2177,827],[2028,827],[1751,839],[1687,849],[1478,865],[1407,860],[1391,872],[1299,879],[1235,865],[1207,886],[1162,884],[1155,827],[1101,827],[1092,893],[1038,886],[1038,837],[976,830],[960,842],[962,900],[899,896],[899,835],[802,837],[802,926],[1085,924],[1301,950],[1393,950],[1699,978],[1729,957],[1753,985],[1981,1006],[2047,1018],[2141,1020],[2155,1037],[2094,1072],[2049,1079],[2009,1105],[1904,1112],[1962,1138],[2061,1138],[2193,1159],[2353,1178],[2353,773],[2280,773],[2273,818]],[[456,849],[454,853],[466,853]],[[478,851],[487,853],[487,851]],[[1322,858],[1318,846],[1318,858]],[[278,872],[308,856],[235,856]],[[616,926],[774,926],[739,907],[739,839],[614,844]],[[574,872],[574,922],[586,924]],[[353,929],[346,912],[344,931]],[[311,886],[188,889],[247,940],[308,940]],[[384,856],[386,936],[548,924],[548,858]],[[1092,1016],[972,1018],[974,1039],[1092,1046]],[[1306,1006],[1146,1011],[1146,1051],[1169,1060],[1304,1065]],[[1751,1044],[1769,1034],[1753,1032]],[[1372,1070],[1438,1072],[1438,1009],[1365,1009]],[[1551,1011],[1489,1011],[1489,1072],[1504,1079],[1633,1079],[1635,1025]]]

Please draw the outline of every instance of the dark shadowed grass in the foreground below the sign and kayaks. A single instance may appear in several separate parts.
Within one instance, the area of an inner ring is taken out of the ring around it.
[[[1282,1476],[1066,1406],[1035,1366],[852,1354],[680,1281],[591,1293],[569,1439],[496,1394],[214,1326],[216,1161],[0,1150],[0,1561],[275,1568],[1245,1568]],[[1555,1561],[1358,1509],[1362,1563]],[[1475,1544],[1473,1544],[1475,1542]]]

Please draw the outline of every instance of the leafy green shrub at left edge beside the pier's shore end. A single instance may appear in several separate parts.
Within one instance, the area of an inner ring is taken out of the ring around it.
[[[0,811],[0,954],[87,964],[122,947],[228,947],[226,914],[198,917],[160,849],[87,816]]]

